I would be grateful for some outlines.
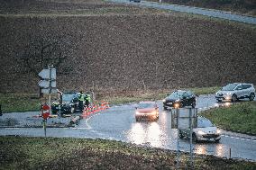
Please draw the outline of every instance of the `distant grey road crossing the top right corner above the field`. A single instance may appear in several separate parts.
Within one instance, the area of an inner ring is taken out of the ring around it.
[[[141,1],[141,3],[134,3],[134,2],[130,2],[129,0],[108,0],[108,1],[114,2],[114,3],[122,3],[122,4],[135,4],[140,6],[166,9],[166,10],[178,11],[183,13],[202,14],[210,17],[222,18],[222,19],[236,21],[236,22],[256,24],[255,17],[228,13],[228,12],[219,11],[219,10],[211,10],[206,8],[198,8],[198,7],[184,6],[184,5],[178,5],[178,4],[159,4],[159,3],[148,2],[148,1]]]

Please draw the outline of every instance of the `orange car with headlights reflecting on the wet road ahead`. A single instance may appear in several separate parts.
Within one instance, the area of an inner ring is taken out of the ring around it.
[[[159,119],[159,106],[155,102],[141,102],[135,107],[135,119],[157,121]]]

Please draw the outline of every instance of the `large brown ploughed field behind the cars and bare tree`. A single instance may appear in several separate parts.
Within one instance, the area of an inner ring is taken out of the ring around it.
[[[255,28],[179,13],[143,14],[132,9],[135,12],[127,14],[129,10],[0,16],[0,93],[37,91],[39,78],[24,68],[21,56],[41,38],[66,43],[61,50],[67,58],[58,68],[60,89],[256,84]]]

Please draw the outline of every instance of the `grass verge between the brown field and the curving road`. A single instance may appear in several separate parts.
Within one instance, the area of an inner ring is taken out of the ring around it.
[[[219,87],[190,88],[195,94],[214,94]],[[102,91],[95,92],[96,103],[102,100],[110,104],[135,103],[145,100],[161,100],[172,90],[142,90],[142,91]],[[39,98],[39,94],[0,94],[0,104],[3,112],[39,111],[41,103],[48,102],[47,96]],[[57,96],[53,95],[52,100]]]

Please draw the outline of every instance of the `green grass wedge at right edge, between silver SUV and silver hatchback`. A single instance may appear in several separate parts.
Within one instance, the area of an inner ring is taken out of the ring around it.
[[[235,103],[200,114],[224,130],[256,135],[256,102]]]

